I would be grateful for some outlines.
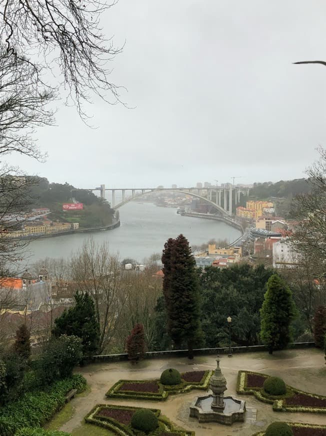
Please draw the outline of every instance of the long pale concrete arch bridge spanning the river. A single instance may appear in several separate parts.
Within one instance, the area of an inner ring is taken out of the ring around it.
[[[200,198],[211,204],[216,208],[216,210],[222,215],[232,215],[232,203],[234,200],[234,204],[238,204],[240,200],[240,193],[247,194],[247,189],[240,188],[237,186],[233,186],[230,183],[227,184],[227,187],[214,186],[207,188],[105,188],[105,185],[100,185],[96,188],[88,189],[90,191],[100,191],[100,197],[105,199],[105,191],[111,192],[111,206],[114,210],[128,203],[129,201],[135,200],[137,198],[142,197],[145,194],[150,192],[163,192],[163,191],[172,191],[172,192],[180,192],[186,195],[191,195],[195,198]],[[121,201],[115,202],[116,194],[120,193]],[[126,195],[126,193],[130,193],[131,195]]]

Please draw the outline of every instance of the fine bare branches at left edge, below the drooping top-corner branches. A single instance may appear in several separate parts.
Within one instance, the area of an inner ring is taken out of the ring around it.
[[[35,144],[36,127],[53,123],[47,104],[55,93],[39,80],[40,72],[25,57],[0,47],[0,156],[18,152],[42,160]]]

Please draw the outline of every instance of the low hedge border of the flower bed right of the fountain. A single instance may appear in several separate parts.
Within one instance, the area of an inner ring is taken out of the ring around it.
[[[246,386],[246,374],[261,375],[263,377],[269,377],[267,374],[254,371],[238,371],[236,382],[236,393],[242,395],[254,395],[257,400],[272,404],[274,411],[282,412],[310,412],[310,413],[326,413],[326,407],[311,407],[311,406],[294,406],[287,405],[286,398],[292,396],[293,393],[302,393],[314,398],[326,399],[326,396],[313,394],[311,392],[305,392],[300,389],[296,389],[292,386],[286,385],[286,394],[279,396],[269,395],[261,388],[247,387]],[[259,434],[259,433],[258,433]]]

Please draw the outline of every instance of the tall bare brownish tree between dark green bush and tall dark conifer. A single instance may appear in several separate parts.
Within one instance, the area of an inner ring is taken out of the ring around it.
[[[110,255],[106,243],[96,245],[89,239],[72,256],[70,271],[77,289],[88,292],[94,300],[100,326],[99,352],[102,352],[114,337],[127,299],[126,290],[121,288],[123,270],[119,259]]]

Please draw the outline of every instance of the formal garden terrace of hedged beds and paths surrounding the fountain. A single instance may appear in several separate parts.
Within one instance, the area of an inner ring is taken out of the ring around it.
[[[122,361],[79,368],[87,380],[86,391],[76,394],[45,427],[47,431],[63,432],[53,436],[326,434],[326,397],[322,395],[326,366],[320,350],[291,349],[272,356],[265,352],[233,354],[231,358],[225,355],[220,365],[227,380],[226,394],[246,401],[244,422],[227,426],[200,423],[189,417],[189,406],[207,391],[216,366],[210,355],[195,356],[191,362],[171,357],[143,360],[136,365]],[[176,370],[170,371],[172,368]],[[167,374],[173,384],[163,384],[166,379],[164,375],[161,379],[162,374]],[[141,411],[138,419],[133,418],[136,411]],[[273,422],[276,433],[273,426],[268,427]],[[283,429],[276,423],[281,423]]]

